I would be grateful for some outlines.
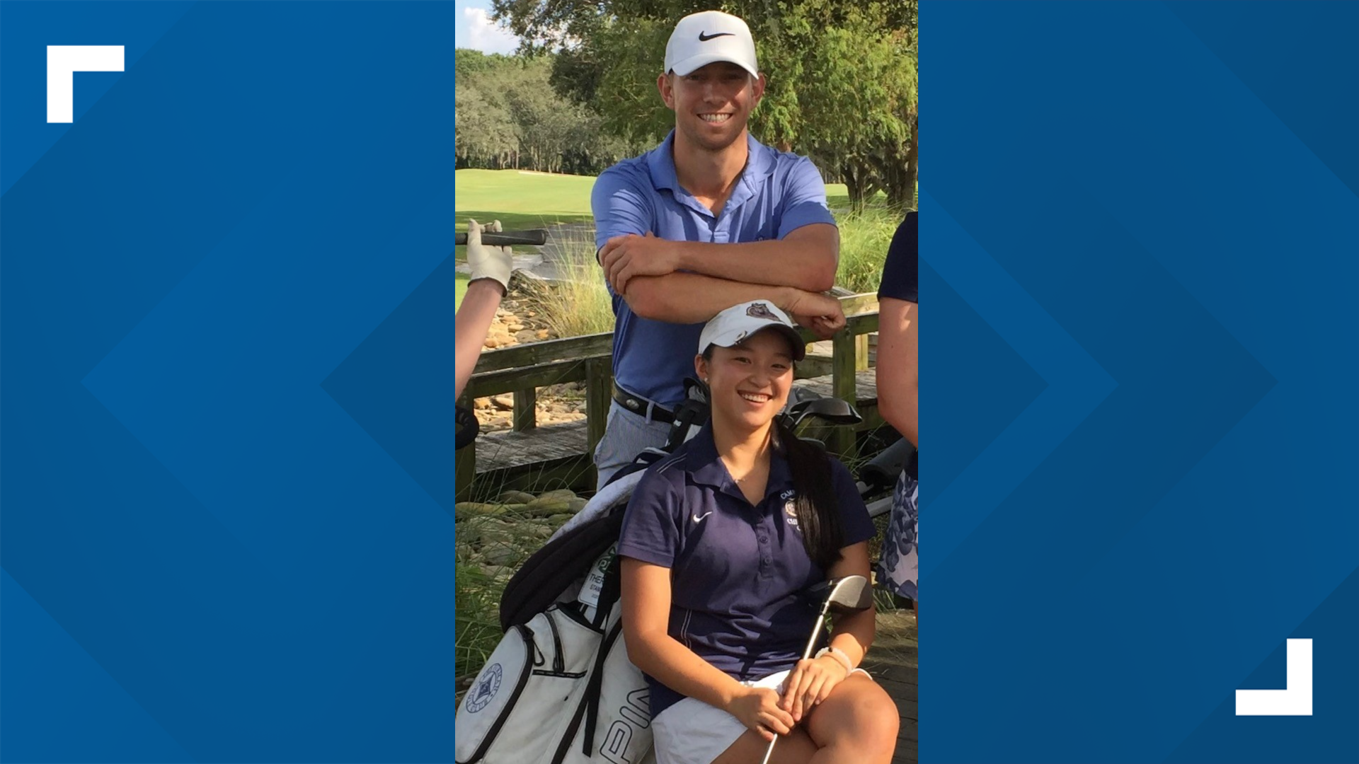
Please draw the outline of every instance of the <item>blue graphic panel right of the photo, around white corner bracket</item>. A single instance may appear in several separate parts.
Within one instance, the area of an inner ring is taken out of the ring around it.
[[[1359,760],[1359,4],[920,29],[920,760]]]

